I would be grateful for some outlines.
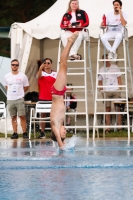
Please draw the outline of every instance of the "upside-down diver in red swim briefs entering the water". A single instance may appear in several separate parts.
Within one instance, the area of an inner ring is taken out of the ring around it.
[[[60,68],[57,74],[56,81],[51,88],[52,93],[52,107],[50,113],[50,123],[52,129],[52,135],[55,136],[56,141],[61,149],[64,147],[64,139],[66,137],[66,129],[64,125],[65,119],[65,104],[64,104],[64,93],[66,91],[67,83],[67,59],[69,56],[70,49],[78,37],[78,31],[73,33],[68,38],[67,45],[62,51],[60,57]],[[51,137],[52,139],[55,139]]]

